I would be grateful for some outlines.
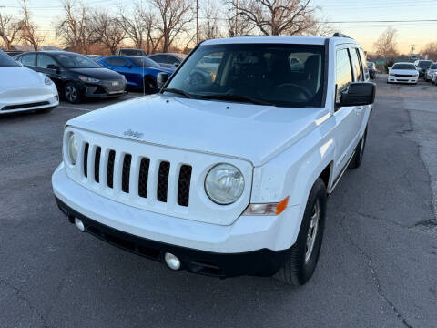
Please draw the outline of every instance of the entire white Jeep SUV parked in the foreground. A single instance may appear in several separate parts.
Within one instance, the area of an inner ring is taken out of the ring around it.
[[[303,284],[327,196],[361,163],[368,78],[349,37],[205,41],[157,95],[66,123],[57,204],[79,230],[173,270]]]

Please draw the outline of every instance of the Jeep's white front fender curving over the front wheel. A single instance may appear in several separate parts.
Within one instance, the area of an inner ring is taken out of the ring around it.
[[[305,141],[302,141],[303,143]],[[287,210],[278,221],[276,249],[288,249],[296,241],[310,190],[317,179],[332,183],[335,141],[320,140],[308,149],[298,142],[263,167],[254,169],[252,203],[275,202],[289,197]],[[257,179],[260,182],[257,183]]]

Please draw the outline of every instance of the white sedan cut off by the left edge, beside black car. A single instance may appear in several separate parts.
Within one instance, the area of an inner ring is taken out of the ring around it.
[[[22,67],[0,50],[0,115],[26,110],[48,112],[57,105],[56,85],[50,78]]]

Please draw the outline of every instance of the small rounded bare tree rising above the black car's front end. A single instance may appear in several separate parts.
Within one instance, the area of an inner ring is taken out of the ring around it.
[[[90,15],[89,24],[91,40],[107,46],[114,55],[121,41],[126,38],[126,33],[119,26],[117,19],[106,12],[95,11]]]

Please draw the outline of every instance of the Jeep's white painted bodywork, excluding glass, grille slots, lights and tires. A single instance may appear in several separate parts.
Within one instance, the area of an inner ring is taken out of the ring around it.
[[[330,53],[323,108],[275,108],[158,95],[128,100],[67,122],[66,134],[75,131],[79,136],[79,154],[83,141],[90,143],[90,149],[100,146],[103,165],[107,149],[117,149],[116,154],[129,152],[132,159],[150,154],[155,171],[155,159],[168,160],[172,180],[181,163],[192,165],[194,192],[189,209],[178,209],[174,193],[170,204],[162,205],[123,195],[116,185],[116,191],[93,185],[92,155],[87,179],[81,174],[82,164],[74,168],[64,159],[52,178],[56,197],[93,220],[154,241],[229,253],[290,248],[314,181],[329,169],[327,191],[332,190],[367,127],[371,106],[334,109],[336,51],[360,45],[352,39],[309,36],[248,36],[202,44],[326,42]],[[246,182],[241,198],[227,206],[208,200],[203,187],[208,169],[221,162],[237,166]],[[138,161],[132,163],[137,168]],[[119,160],[117,165],[119,170]],[[131,169],[130,187],[135,193],[134,172]],[[100,174],[101,184],[104,176]],[[155,182],[149,183],[153,194]],[[169,181],[169,194],[175,187]],[[279,216],[241,215],[249,203],[279,202],[286,197],[290,197],[288,207]]]

